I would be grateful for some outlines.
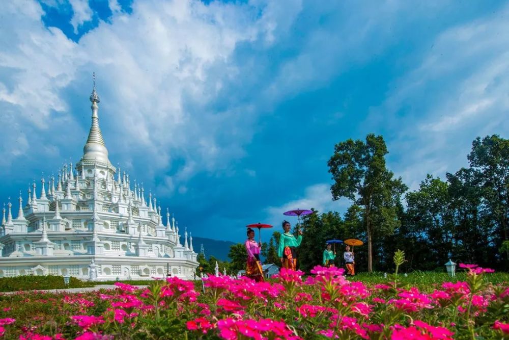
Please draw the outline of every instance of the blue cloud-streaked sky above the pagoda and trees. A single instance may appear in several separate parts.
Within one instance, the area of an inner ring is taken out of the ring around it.
[[[0,196],[76,162],[91,74],[113,164],[195,236],[332,201],[335,143],[382,134],[411,189],[509,132],[509,3],[0,2]],[[39,186],[40,187],[40,186]],[[1,201],[0,201],[1,202]],[[17,210],[16,204],[14,204]]]

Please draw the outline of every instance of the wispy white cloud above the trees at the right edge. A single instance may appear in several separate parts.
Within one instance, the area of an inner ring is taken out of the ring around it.
[[[420,65],[391,84],[397,90],[366,120],[366,132],[392,132],[389,166],[412,190],[427,173],[443,178],[467,166],[475,137],[507,138],[507,15],[509,7],[442,32]]]

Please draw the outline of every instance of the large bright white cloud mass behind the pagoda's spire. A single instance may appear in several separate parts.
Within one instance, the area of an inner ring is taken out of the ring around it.
[[[254,109],[233,105],[215,112],[209,105],[222,84],[238,76],[232,60],[237,45],[265,39],[270,31],[266,17],[292,20],[282,4],[260,4],[260,16],[259,8],[250,5],[149,0],[134,2],[129,15],[112,0],[110,23],[100,21],[73,42],[59,29],[44,27],[38,3],[23,4],[0,3],[7,20],[0,27],[0,75],[5,74],[0,104],[27,136],[16,149],[0,149],[3,164],[23,153],[35,156],[35,143],[55,130],[55,145],[78,153],[63,141],[86,137],[90,74],[96,71],[103,134],[110,154],[121,158],[111,161],[142,164],[144,177],[150,178],[168,170],[173,160],[183,160],[181,168],[170,169],[176,174],[168,183],[171,192],[185,191],[185,181],[196,171],[227,169],[230,160],[245,154],[251,134],[243,126],[252,124]],[[76,32],[93,13],[88,1],[71,5]],[[5,145],[12,137],[5,134],[0,140]]]

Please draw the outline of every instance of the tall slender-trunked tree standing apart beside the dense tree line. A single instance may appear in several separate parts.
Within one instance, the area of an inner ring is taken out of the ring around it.
[[[367,269],[373,271],[374,232],[391,234],[400,226],[398,205],[407,190],[385,165],[388,153],[382,136],[369,134],[365,142],[349,139],[335,145],[328,166],[334,183],[332,199],[346,197],[362,207],[367,237]]]

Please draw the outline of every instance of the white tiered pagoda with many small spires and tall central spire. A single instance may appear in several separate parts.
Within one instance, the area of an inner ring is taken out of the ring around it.
[[[142,185],[131,186],[108,159],[99,128],[95,80],[92,126],[83,156],[29,187],[28,199],[14,219],[11,201],[4,205],[0,237],[0,277],[63,275],[90,280],[142,279],[168,274],[193,279],[198,266],[192,237]],[[187,229],[187,228],[186,228]]]

